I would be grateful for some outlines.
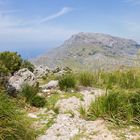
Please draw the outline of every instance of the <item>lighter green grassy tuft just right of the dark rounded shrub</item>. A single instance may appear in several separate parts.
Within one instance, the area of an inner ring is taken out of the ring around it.
[[[83,86],[92,86],[94,81],[93,74],[90,72],[82,72],[79,75],[79,81]]]

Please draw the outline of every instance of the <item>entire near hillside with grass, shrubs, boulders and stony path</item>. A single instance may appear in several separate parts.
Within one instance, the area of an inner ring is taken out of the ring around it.
[[[14,52],[0,64],[2,140],[140,139],[140,68],[44,69]]]

